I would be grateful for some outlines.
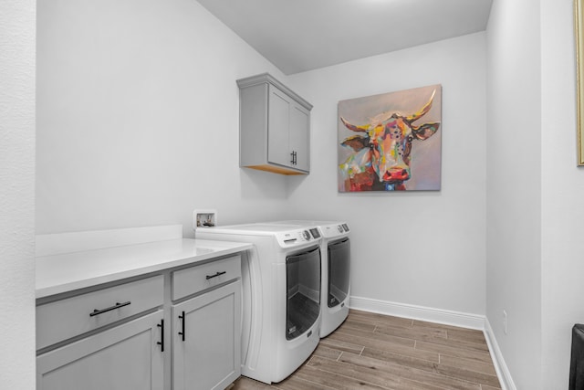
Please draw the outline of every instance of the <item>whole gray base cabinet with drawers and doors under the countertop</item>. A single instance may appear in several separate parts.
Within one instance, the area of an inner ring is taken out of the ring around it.
[[[36,389],[223,390],[241,374],[240,261],[37,301]]]

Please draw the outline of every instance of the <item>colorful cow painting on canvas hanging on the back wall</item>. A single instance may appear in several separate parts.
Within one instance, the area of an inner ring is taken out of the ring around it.
[[[339,138],[350,135],[340,138],[339,191],[440,189],[441,98],[436,85],[340,101]]]

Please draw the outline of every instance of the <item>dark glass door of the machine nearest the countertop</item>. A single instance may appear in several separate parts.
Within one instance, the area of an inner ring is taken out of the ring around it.
[[[286,258],[286,340],[296,339],[320,313],[320,249],[313,247]]]

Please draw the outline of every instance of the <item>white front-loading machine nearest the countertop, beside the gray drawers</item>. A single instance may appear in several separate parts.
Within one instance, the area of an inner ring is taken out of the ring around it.
[[[320,340],[318,228],[248,224],[198,228],[195,236],[254,245],[242,257],[242,374],[282,381]]]

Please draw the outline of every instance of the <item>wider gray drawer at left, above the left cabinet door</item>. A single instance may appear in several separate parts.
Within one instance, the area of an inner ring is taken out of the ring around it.
[[[36,306],[36,349],[162,306],[164,277],[118,286]]]

